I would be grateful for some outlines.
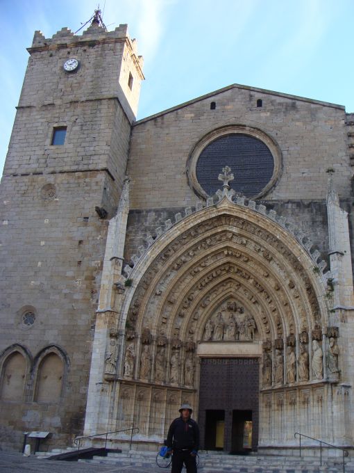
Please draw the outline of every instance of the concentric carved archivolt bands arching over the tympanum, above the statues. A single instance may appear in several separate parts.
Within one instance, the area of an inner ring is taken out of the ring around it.
[[[268,305],[264,313],[278,313],[275,318],[283,320],[286,316],[287,331],[296,324],[311,325],[311,316],[319,321],[320,310],[314,289],[298,259],[294,259],[289,250],[280,246],[278,241],[275,249],[271,244],[266,247],[264,242],[274,243],[274,237],[264,232],[260,235],[255,226],[248,228],[251,234],[244,236],[226,228],[220,231],[220,226],[228,227],[230,223],[249,227],[244,221],[240,223],[219,217],[207,223],[214,234],[209,230],[205,236],[201,235],[205,223],[188,230],[171,243],[146,271],[128,314],[130,326],[137,325],[140,307],[144,307],[144,323],[149,323],[151,330],[157,313],[161,316],[162,326],[176,316],[185,318],[199,294],[205,289],[210,292],[210,288],[226,274],[233,275],[233,280],[243,286],[244,294],[247,293],[250,299]],[[255,241],[257,233],[258,237],[262,236],[262,246]],[[196,238],[193,239],[192,235]],[[178,251],[185,248],[186,243],[189,243],[188,248]],[[185,295],[181,298],[183,293]],[[300,321],[294,320],[294,312]],[[269,326],[269,320],[266,322]]]

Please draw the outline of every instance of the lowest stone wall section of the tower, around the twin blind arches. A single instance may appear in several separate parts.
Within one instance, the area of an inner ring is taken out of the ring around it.
[[[117,202],[107,173],[3,177],[0,353],[20,344],[35,357],[55,344],[69,359],[62,401],[34,401],[35,385],[22,402],[1,401],[3,446],[19,448],[23,431],[53,433],[43,448],[82,432],[108,227],[94,207],[104,188]],[[35,309],[31,328],[21,321],[26,306]]]

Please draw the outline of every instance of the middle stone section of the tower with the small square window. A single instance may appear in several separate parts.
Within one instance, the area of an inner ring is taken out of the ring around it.
[[[66,126],[64,145],[51,145],[53,127]],[[4,175],[108,168],[121,189],[130,124],[115,99],[20,107]]]

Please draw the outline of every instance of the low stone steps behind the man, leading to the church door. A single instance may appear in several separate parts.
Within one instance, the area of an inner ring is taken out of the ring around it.
[[[92,460],[80,462],[119,466],[129,472],[163,472],[155,463],[157,452],[122,451],[121,454],[108,453],[106,457],[94,456]],[[165,471],[170,472],[170,468]],[[185,470],[183,470],[185,471]],[[228,455],[219,452],[200,452],[199,473],[342,473],[342,457],[330,457],[320,460],[318,457],[298,456],[249,456]],[[354,460],[346,458],[346,473],[354,473]]]

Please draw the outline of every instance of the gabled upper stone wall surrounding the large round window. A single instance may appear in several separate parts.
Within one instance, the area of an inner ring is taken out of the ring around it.
[[[258,99],[263,102],[260,108]],[[210,109],[210,102],[216,109]],[[133,127],[128,163],[130,206],[194,205],[196,196],[185,173],[187,159],[203,136],[225,125],[261,129],[278,143],[283,172],[263,200],[323,200],[328,168],[335,169],[339,197],[347,197],[351,168],[344,120],[339,106],[237,86],[140,120]]]

